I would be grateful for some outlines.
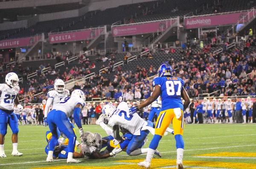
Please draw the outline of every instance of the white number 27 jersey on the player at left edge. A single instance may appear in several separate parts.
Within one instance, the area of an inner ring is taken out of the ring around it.
[[[19,93],[20,87],[11,88],[6,84],[0,84],[1,98],[0,98],[0,109],[13,110],[14,99]]]

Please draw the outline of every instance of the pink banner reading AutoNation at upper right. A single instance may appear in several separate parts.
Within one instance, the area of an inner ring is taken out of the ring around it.
[[[184,21],[184,25],[186,29],[203,28],[203,27],[220,26],[220,25],[233,25],[233,24],[236,24],[243,17],[244,17],[244,22],[243,20],[241,20],[239,23],[246,23],[248,19],[253,17],[253,11],[249,13],[250,18],[248,18],[247,14],[248,12],[239,12],[239,13],[233,13],[233,14],[187,18]]]

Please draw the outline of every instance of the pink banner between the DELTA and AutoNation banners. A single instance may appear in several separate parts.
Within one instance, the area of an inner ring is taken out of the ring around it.
[[[165,31],[176,20],[167,20],[154,23],[134,24],[126,26],[116,26],[112,28],[113,37],[122,37],[136,34],[148,34],[157,31]]]

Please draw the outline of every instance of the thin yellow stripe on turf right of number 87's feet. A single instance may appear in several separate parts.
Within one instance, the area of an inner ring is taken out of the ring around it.
[[[194,156],[209,156],[209,157],[256,157],[255,152],[218,152],[212,154],[201,154]]]

